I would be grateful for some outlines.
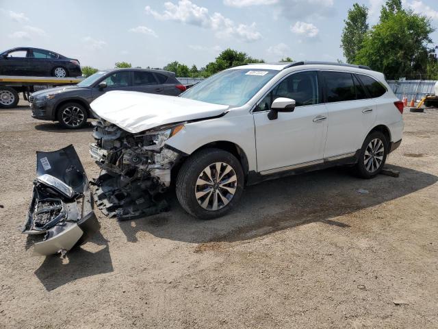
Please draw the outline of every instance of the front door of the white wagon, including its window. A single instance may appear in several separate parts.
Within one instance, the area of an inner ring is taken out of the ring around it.
[[[272,101],[294,99],[293,112],[268,119]],[[255,108],[257,171],[269,174],[322,162],[327,130],[316,71],[294,73],[279,82]]]

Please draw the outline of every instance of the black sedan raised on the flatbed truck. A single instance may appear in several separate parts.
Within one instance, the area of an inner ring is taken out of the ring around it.
[[[0,54],[0,75],[79,77],[82,71],[79,60],[54,51],[19,47]]]

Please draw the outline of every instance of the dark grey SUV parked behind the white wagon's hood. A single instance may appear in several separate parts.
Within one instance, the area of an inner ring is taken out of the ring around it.
[[[68,129],[77,129],[92,117],[90,103],[110,90],[177,96],[185,90],[175,73],[149,69],[113,69],[90,75],[75,86],[50,88],[29,97],[32,117],[60,121]]]

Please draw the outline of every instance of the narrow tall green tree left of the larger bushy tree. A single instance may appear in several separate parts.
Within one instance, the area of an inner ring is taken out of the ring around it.
[[[354,3],[348,10],[345,26],[342,30],[341,48],[348,63],[355,62],[356,54],[362,47],[363,39],[368,31],[368,8]]]

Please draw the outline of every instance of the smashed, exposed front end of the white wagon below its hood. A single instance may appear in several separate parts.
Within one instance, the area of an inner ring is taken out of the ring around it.
[[[181,153],[165,145],[183,125],[166,125],[133,134],[103,120],[94,124],[90,154],[102,169],[92,184],[97,207],[118,220],[168,210],[163,193]]]

